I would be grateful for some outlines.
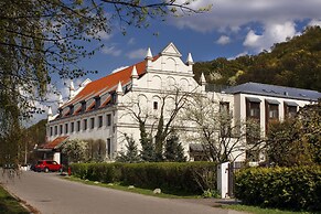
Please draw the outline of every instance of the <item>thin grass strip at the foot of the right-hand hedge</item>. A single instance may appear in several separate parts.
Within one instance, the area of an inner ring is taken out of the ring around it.
[[[293,212],[293,211],[278,210],[278,208],[263,208],[259,206],[248,206],[248,205],[242,205],[242,204],[222,205],[221,207],[235,210],[235,211],[243,211],[243,212],[254,213],[254,214],[312,214],[310,212]]]

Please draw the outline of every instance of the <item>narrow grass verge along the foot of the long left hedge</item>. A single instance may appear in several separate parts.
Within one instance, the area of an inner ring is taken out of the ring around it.
[[[95,183],[94,181],[85,181],[75,176],[65,176],[66,180],[69,181],[76,181],[81,182],[84,184],[88,185],[98,185],[103,188],[109,188],[114,190],[120,190],[120,191],[126,191],[126,192],[132,192],[132,193],[138,193],[138,194],[143,194],[143,195],[151,195],[151,196],[157,196],[157,197],[165,197],[165,199],[196,199],[201,197],[200,195],[191,195],[191,194],[185,194],[185,193],[179,193],[179,192],[172,192],[172,193],[164,193],[162,190],[161,194],[154,194],[150,189],[142,189],[142,188],[137,188],[135,186],[133,189],[128,189],[128,185],[122,185],[120,183]]]

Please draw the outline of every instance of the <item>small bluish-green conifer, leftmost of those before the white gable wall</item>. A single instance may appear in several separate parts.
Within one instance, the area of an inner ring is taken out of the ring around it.
[[[116,161],[129,163],[139,162],[140,158],[138,156],[138,149],[137,145],[135,143],[135,140],[132,139],[132,137],[129,137],[126,133],[125,139],[127,142],[127,145],[125,146],[126,152],[120,152],[119,156],[116,158]]]

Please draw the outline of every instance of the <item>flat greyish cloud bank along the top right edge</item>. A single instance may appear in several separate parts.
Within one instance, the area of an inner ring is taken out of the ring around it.
[[[185,0],[179,0],[182,2]],[[210,12],[173,19],[170,23],[206,32],[237,31],[248,23],[282,23],[286,21],[320,19],[320,0],[197,0],[192,8],[213,4]]]

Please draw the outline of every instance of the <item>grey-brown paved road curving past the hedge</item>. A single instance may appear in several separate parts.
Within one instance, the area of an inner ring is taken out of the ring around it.
[[[0,182],[42,214],[238,214],[184,200],[85,185],[63,180],[56,173],[26,171],[14,181],[0,174]]]

